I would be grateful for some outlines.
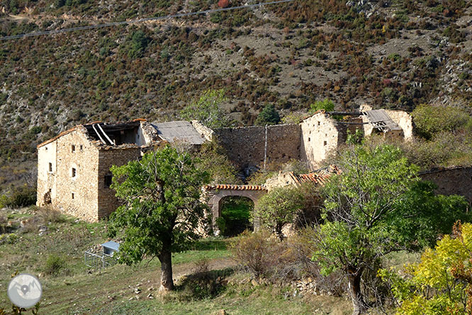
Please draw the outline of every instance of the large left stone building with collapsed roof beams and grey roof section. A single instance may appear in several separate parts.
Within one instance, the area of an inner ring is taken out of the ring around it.
[[[86,221],[97,221],[118,208],[110,188],[112,165],[139,159],[164,143],[205,141],[188,121],[89,123],[76,126],[38,145],[38,206]]]

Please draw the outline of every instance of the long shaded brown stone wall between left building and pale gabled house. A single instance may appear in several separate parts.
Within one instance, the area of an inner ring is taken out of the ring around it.
[[[267,138],[266,163],[281,163],[300,158],[300,126],[275,125],[215,129],[218,143],[238,167],[264,165],[264,147]]]

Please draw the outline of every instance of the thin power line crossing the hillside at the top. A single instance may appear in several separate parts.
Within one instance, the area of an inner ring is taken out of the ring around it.
[[[140,18],[140,19],[132,20],[132,21],[104,23],[104,24],[97,24],[97,25],[91,25],[91,26],[78,26],[76,28],[63,28],[62,30],[41,31],[41,32],[35,32],[35,33],[10,35],[10,36],[0,37],[0,40],[10,40],[10,39],[23,38],[23,37],[33,37],[33,36],[39,36],[39,35],[52,35],[52,34],[66,33],[66,32],[72,32],[72,31],[90,30],[92,28],[108,28],[108,27],[111,27],[111,26],[120,26],[120,25],[125,25],[125,24],[142,23],[142,22],[147,22],[147,21],[167,20],[168,18],[183,18],[185,16],[198,16],[198,15],[207,14],[207,13],[215,13],[215,12],[221,12],[221,11],[231,11],[231,10],[236,10],[236,9],[257,8],[259,6],[267,6],[269,4],[283,4],[283,3],[286,3],[286,2],[292,2],[292,1],[295,1],[295,0],[279,0],[279,1],[264,2],[264,3],[259,3],[259,4],[248,4],[246,6],[232,6],[230,8],[210,9],[210,10],[206,10],[206,11],[197,11],[197,12],[190,12],[190,13],[179,13],[179,14],[172,14],[172,15],[169,15],[169,16],[157,16],[155,18]]]

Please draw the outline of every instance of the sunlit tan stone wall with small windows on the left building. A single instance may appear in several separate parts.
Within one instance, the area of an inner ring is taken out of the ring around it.
[[[82,127],[85,129],[84,127]],[[79,126],[57,138],[57,193],[52,206],[86,221],[96,221],[99,150]],[[74,145],[74,150],[72,150]],[[75,169],[75,174],[73,170]],[[75,175],[75,176],[73,176]]]

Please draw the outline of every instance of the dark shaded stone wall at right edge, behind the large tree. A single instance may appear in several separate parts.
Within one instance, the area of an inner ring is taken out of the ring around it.
[[[437,184],[437,194],[459,194],[472,203],[472,167],[448,167],[422,172],[420,177]]]

